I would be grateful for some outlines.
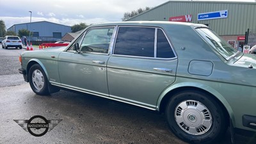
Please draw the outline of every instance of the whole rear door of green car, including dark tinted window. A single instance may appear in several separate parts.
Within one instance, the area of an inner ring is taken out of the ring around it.
[[[108,61],[109,97],[155,109],[176,70],[177,56],[163,29],[120,27]]]

